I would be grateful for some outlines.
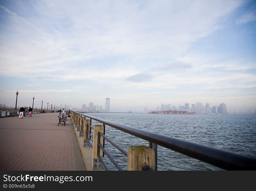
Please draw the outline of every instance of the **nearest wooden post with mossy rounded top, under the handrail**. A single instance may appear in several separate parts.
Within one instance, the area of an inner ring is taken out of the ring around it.
[[[145,164],[155,170],[155,151],[145,145],[129,147],[127,151],[127,170],[142,170]]]

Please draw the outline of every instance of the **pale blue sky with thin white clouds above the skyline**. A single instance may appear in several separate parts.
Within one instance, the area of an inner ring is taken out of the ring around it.
[[[0,0],[0,68],[7,106],[255,111],[256,1]]]

